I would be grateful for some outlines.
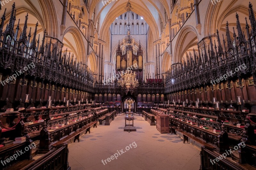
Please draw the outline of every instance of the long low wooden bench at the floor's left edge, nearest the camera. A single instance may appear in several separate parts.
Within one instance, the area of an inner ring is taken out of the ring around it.
[[[60,141],[52,144],[52,146],[55,147],[55,146],[58,146],[58,145],[63,144],[63,143],[69,144],[69,143],[72,142],[72,140],[74,140],[74,142],[76,142],[76,140],[79,142],[80,141],[79,140],[80,134],[86,134],[87,132],[89,132],[89,134],[90,134],[91,133],[90,129],[91,129],[92,126],[93,126],[93,128],[95,126],[97,128],[97,121],[89,123],[88,125],[84,126],[83,128],[77,130],[76,132],[73,132],[69,136],[64,137]]]

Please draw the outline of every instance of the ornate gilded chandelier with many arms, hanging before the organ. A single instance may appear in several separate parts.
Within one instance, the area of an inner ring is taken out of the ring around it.
[[[128,91],[132,92],[135,87],[138,87],[139,82],[136,79],[135,72],[132,73],[131,71],[130,73],[130,70],[126,70],[126,72],[121,75],[121,80],[119,79],[117,85],[122,87],[125,86],[126,93],[128,93]]]

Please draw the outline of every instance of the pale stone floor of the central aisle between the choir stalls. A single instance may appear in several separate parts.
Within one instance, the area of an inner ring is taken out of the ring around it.
[[[110,126],[99,125],[91,130],[91,134],[80,137],[79,143],[70,144],[68,162],[71,169],[199,169],[197,148],[183,144],[177,135],[161,134],[141,116],[135,116],[135,119],[136,132],[124,132],[124,116],[117,116]],[[114,154],[117,159],[112,156]]]

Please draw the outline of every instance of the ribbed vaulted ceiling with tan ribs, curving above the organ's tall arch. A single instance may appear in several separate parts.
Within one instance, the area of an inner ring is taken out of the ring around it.
[[[166,10],[167,16],[170,16],[169,6],[170,2],[167,0],[140,0],[140,1],[130,1],[133,5],[133,12],[142,16],[149,27],[153,31],[154,39],[157,40],[161,34],[160,29],[160,18],[164,18],[164,11]],[[125,12],[124,7],[127,4],[127,0],[118,0],[111,1],[111,3],[107,5],[103,5],[102,1],[95,0],[92,2],[91,9],[95,8],[96,18],[99,19],[99,32],[101,39],[108,39],[108,34],[106,34],[106,30],[108,30],[111,23],[116,19],[117,16],[123,14]],[[90,16],[92,18],[92,16]],[[170,18],[170,17],[168,17]]]

